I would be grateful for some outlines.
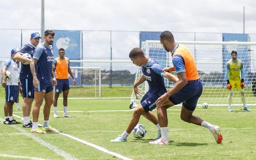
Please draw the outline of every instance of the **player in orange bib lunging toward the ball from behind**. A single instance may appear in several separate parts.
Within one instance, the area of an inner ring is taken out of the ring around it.
[[[198,76],[196,63],[188,48],[183,44],[176,44],[174,36],[170,31],[164,31],[160,35],[160,42],[167,52],[172,54],[173,67],[163,69],[163,71],[176,71],[179,80],[174,87],[158,98],[157,118],[161,130],[161,138],[149,144],[165,145],[169,144],[168,138],[168,118],[167,108],[182,103],[181,119],[185,122],[201,125],[212,132],[216,143],[221,144],[222,135],[217,125],[212,125],[201,118],[194,116],[197,100],[203,91],[203,85]]]

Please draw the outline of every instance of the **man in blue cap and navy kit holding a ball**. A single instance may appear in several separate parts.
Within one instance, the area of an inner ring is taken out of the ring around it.
[[[31,59],[25,58],[22,55],[24,53],[29,53],[31,57],[34,55],[35,48],[40,42],[40,34],[37,32],[33,32],[30,35],[30,43],[22,45],[18,54],[15,54],[15,60],[19,62],[26,62],[28,63],[23,64],[21,63],[21,71],[20,71],[20,83],[22,85],[22,92],[23,92],[23,103],[22,103],[22,112],[23,112],[23,127],[32,127],[32,122],[30,121],[30,113],[34,96],[34,85],[33,85],[33,76],[30,70],[30,63]]]

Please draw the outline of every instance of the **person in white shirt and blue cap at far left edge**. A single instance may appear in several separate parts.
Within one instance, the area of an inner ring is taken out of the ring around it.
[[[19,88],[18,85],[18,66],[13,59],[14,53],[17,53],[19,49],[14,48],[11,50],[11,57],[5,60],[2,67],[2,86],[5,88],[5,104],[4,104],[4,124],[20,124],[13,119],[13,104],[18,102]],[[7,72],[11,74],[6,75]]]

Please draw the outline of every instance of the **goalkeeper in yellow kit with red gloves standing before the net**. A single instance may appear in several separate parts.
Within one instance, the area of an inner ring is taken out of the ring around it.
[[[226,69],[226,78],[227,78],[227,89],[229,89],[229,108],[228,110],[232,112],[231,103],[232,97],[234,93],[234,86],[236,86],[236,90],[240,92],[241,100],[243,102],[243,110],[251,111],[245,103],[245,93],[243,88],[245,84],[243,83],[244,72],[243,72],[243,62],[237,59],[237,52],[231,52],[232,59],[227,62],[227,69]],[[240,71],[241,71],[241,78],[240,78]]]

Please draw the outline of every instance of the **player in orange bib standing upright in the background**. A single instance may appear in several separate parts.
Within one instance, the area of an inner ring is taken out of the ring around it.
[[[63,117],[71,117],[67,113],[68,107],[68,93],[69,93],[69,81],[68,74],[73,78],[73,84],[76,84],[75,77],[73,76],[71,69],[69,67],[69,59],[65,57],[65,50],[63,48],[59,49],[59,57],[53,60],[53,73],[56,70],[56,80],[57,85],[55,86],[55,95],[53,99],[53,109],[54,118],[57,118],[57,103],[61,92],[63,92],[63,106],[64,114]]]

